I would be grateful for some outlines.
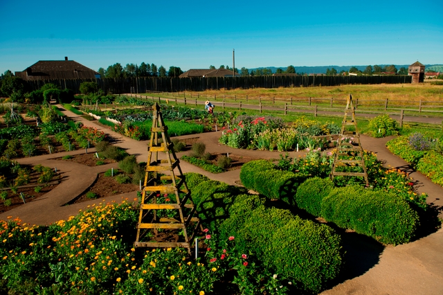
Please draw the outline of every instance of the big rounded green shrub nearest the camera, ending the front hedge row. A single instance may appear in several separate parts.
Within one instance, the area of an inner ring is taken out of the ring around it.
[[[319,292],[336,278],[343,252],[332,228],[302,220],[287,210],[265,208],[257,196],[251,196],[252,202],[246,197],[241,200],[248,208],[243,211],[234,204],[231,208],[239,213],[231,211],[234,214],[221,224],[221,235],[234,235],[236,248],[253,252],[275,274],[307,292]]]

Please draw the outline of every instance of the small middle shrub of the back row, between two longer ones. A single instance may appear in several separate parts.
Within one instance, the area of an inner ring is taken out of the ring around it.
[[[298,208],[307,213],[320,216],[321,203],[334,188],[334,183],[329,178],[314,177],[300,184],[296,193]]]

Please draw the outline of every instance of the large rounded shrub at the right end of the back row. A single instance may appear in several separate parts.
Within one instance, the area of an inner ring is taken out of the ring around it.
[[[419,226],[417,213],[404,199],[361,186],[334,188],[323,199],[321,216],[386,244],[409,242]]]

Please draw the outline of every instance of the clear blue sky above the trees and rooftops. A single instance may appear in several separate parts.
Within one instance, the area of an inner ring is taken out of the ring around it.
[[[443,64],[443,0],[0,0],[0,73],[39,60],[210,65]]]

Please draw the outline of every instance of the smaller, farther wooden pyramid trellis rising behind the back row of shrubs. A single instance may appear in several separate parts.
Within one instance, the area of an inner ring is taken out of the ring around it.
[[[351,115],[351,118],[348,116]],[[341,167],[348,168],[348,171],[340,171]],[[337,169],[338,168],[338,169]],[[363,172],[361,172],[363,170]],[[352,95],[347,99],[345,116],[341,124],[341,132],[338,136],[334,162],[332,163],[331,179],[336,176],[363,177],[366,186],[369,186],[368,172],[363,158],[363,148],[361,147],[360,134],[357,129],[355,119],[355,107]]]

